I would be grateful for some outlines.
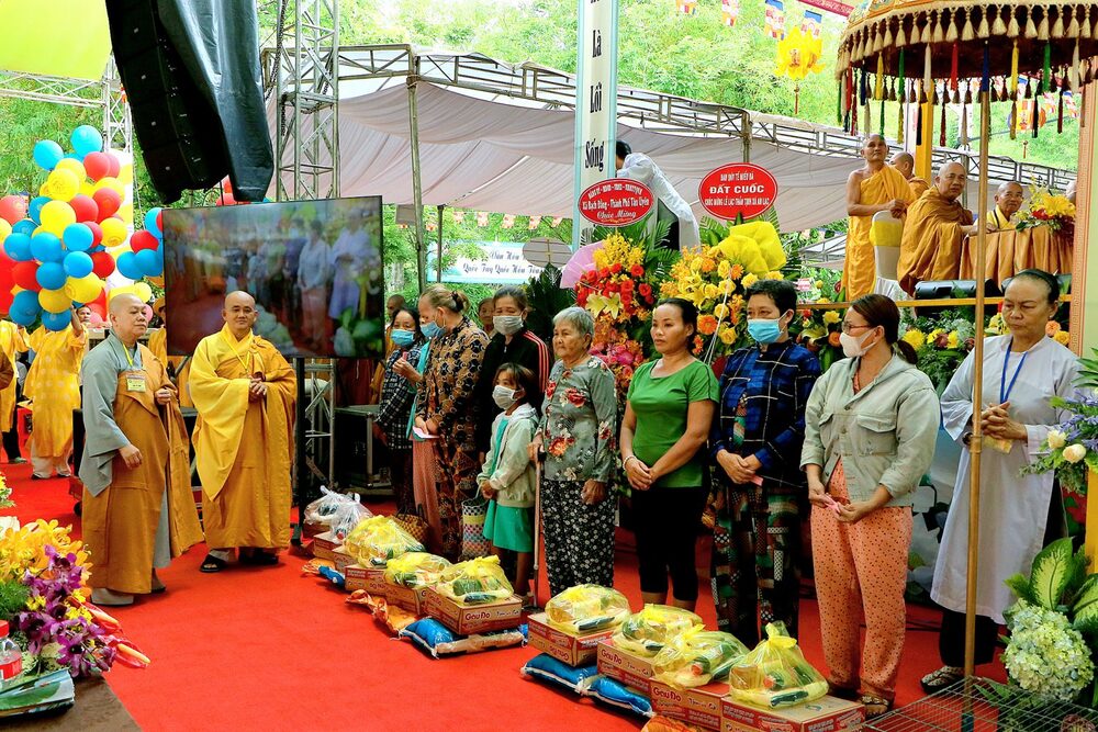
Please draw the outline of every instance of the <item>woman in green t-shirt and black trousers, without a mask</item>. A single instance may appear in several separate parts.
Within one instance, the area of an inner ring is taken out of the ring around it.
[[[621,460],[634,488],[632,509],[646,604],[694,609],[694,544],[705,507],[705,453],[717,403],[713,370],[690,352],[697,308],[685,300],[661,301],[652,312],[657,361],[637,369],[621,423]]]

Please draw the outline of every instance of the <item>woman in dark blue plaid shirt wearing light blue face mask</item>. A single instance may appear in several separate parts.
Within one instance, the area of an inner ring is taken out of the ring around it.
[[[808,515],[798,465],[820,364],[789,339],[797,306],[792,282],[760,280],[748,289],[747,304],[757,345],[729,357],[709,436],[716,463],[710,576],[718,628],[753,647],[760,624],[781,620],[797,635],[800,527]]]

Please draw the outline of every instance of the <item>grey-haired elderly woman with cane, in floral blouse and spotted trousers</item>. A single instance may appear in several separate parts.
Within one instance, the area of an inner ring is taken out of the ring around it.
[[[614,584],[614,502],[617,394],[609,368],[589,353],[595,322],[582,307],[553,318],[557,363],[549,375],[530,458],[546,451],[541,521],[552,595],[584,583]]]

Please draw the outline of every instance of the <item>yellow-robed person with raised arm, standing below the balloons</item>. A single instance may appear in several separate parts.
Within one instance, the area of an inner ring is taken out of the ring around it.
[[[72,410],[80,406],[80,360],[88,340],[86,325],[91,311],[72,311],[72,323],[64,330],[45,327],[31,334],[27,345],[34,361],[26,373],[23,394],[33,409],[31,462],[34,478],[70,475]]]

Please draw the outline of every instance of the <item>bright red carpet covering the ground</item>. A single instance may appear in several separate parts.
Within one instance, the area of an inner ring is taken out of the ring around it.
[[[26,465],[4,465],[22,521],[78,521],[67,482],[31,482]],[[355,727],[366,730],[636,730],[640,718],[579,701],[518,669],[531,649],[490,651],[434,661],[410,643],[392,640],[341,592],[300,575],[300,556],[270,568],[199,572],[195,547],[160,573],[168,592],[113,610],[126,634],[153,658],[143,671],[116,667],[107,675],[115,694],[145,730],[298,730]],[[640,604],[636,558],[620,552],[617,586]],[[699,615],[714,622],[703,587]],[[816,603],[803,604],[802,645],[822,667]],[[900,703],[922,696],[918,679],[938,667],[933,610],[912,607]],[[982,669],[1002,678],[1001,667]],[[77,700],[79,703],[79,699]]]

